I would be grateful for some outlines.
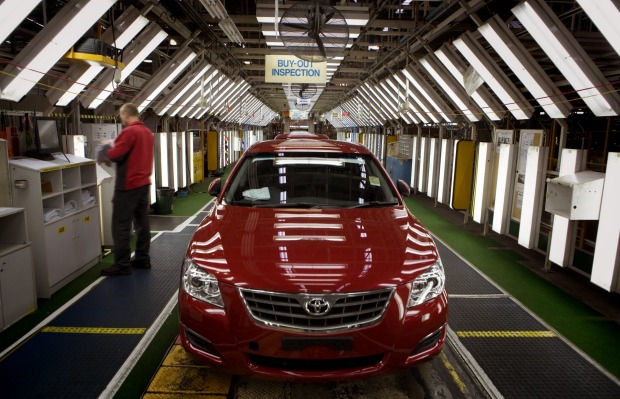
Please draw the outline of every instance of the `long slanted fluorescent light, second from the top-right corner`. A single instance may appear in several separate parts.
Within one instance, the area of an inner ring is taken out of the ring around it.
[[[606,93],[613,90],[613,86],[544,1],[524,1],[512,12],[594,115],[620,114],[618,93]]]

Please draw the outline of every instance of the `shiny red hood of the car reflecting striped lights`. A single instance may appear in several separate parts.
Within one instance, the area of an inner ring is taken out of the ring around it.
[[[282,292],[352,292],[409,282],[438,258],[404,206],[273,209],[218,205],[188,256],[224,283]]]

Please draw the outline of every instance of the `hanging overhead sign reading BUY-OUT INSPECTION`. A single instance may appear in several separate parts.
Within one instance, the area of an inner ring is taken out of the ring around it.
[[[294,55],[266,55],[267,83],[326,83],[327,63],[304,61]]]

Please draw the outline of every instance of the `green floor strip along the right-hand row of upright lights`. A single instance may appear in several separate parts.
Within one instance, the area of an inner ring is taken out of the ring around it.
[[[620,325],[528,270],[516,252],[489,249],[498,243],[467,232],[415,197],[406,202],[432,234],[620,378]]]

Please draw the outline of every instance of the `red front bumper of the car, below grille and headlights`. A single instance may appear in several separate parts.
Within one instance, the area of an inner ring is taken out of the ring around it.
[[[258,324],[234,287],[222,287],[225,309],[181,290],[181,341],[190,353],[236,375],[312,381],[397,371],[438,355],[446,337],[447,294],[406,309],[408,292],[396,288],[372,326],[305,333]],[[302,344],[285,345],[287,340]]]

